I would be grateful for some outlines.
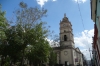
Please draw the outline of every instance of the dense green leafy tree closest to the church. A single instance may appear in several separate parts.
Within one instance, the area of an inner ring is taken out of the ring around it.
[[[30,64],[34,64],[37,66],[37,64],[42,64],[44,62],[47,62],[47,57],[49,55],[49,42],[45,39],[46,35],[45,33],[47,30],[43,30],[42,28],[42,22],[37,24],[34,29],[32,29],[32,34],[29,34],[30,37],[34,37],[33,39],[30,38],[30,44],[29,44],[29,53],[27,53],[27,57],[30,60]],[[26,50],[26,51],[27,51]]]

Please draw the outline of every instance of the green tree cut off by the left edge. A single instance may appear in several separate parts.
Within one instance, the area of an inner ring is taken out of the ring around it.
[[[7,26],[8,26],[8,24],[7,24],[6,18],[5,18],[5,11],[2,11],[2,7],[0,5],[0,58],[1,58],[1,66],[2,66],[2,60],[6,56],[6,53],[4,53],[3,51],[6,50],[4,47],[6,47],[6,45],[5,45],[5,43],[6,43],[5,30],[6,30]]]

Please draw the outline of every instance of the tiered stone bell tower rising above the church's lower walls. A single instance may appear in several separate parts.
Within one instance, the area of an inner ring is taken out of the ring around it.
[[[73,48],[75,47],[72,25],[66,17],[66,14],[64,14],[62,21],[60,20],[60,46],[70,46]]]

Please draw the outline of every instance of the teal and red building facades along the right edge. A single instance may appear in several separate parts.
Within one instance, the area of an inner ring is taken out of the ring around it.
[[[91,0],[91,17],[95,22],[94,25],[94,43],[93,43],[93,56],[95,63],[99,66],[100,63],[100,0]]]

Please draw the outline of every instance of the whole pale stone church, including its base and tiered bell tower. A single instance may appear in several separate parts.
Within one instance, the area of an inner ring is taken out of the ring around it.
[[[57,64],[64,66],[83,66],[82,53],[79,48],[75,48],[72,24],[64,14],[60,21],[60,46],[54,47],[57,53]]]

